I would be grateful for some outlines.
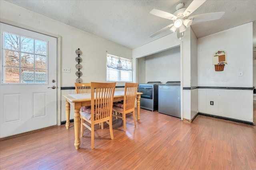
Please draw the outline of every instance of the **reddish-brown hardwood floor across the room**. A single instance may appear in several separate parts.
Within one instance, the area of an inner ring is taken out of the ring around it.
[[[256,102],[254,102],[254,113]],[[81,170],[256,170],[256,126],[198,115],[193,123],[141,109],[134,127],[127,116],[96,125],[94,150],[90,131],[80,149],[74,147],[74,126],[65,125],[0,141],[0,169]]]

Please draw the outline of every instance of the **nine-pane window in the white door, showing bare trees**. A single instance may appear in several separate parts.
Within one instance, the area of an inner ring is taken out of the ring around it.
[[[4,32],[4,83],[46,83],[46,42]]]

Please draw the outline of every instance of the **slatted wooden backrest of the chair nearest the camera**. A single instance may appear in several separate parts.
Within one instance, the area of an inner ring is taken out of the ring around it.
[[[98,83],[91,82],[91,88],[95,90],[91,92],[91,106],[94,119],[104,119],[106,117],[112,117],[112,106],[114,100],[116,82],[113,83]]]

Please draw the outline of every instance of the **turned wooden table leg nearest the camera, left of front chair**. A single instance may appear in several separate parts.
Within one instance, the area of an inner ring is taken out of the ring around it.
[[[79,149],[80,146],[80,109],[74,109],[74,129],[75,129],[75,147]]]

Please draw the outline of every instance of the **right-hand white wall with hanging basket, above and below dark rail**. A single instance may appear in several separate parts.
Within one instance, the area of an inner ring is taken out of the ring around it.
[[[252,87],[252,22],[198,39],[198,86]],[[212,65],[215,51],[227,52],[224,71]],[[243,76],[238,76],[242,71]],[[210,105],[214,101],[214,105]],[[253,121],[252,90],[198,89],[198,111]]]

